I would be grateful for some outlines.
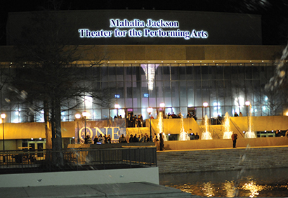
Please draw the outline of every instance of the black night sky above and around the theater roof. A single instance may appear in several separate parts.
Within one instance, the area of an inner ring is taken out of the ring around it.
[[[288,38],[287,0],[190,0],[190,1],[114,1],[114,0],[1,0],[0,45],[6,45],[6,20],[9,12],[39,11],[43,8],[58,10],[133,9],[166,11],[209,11],[225,13],[251,13],[262,15],[264,45],[286,45]]]

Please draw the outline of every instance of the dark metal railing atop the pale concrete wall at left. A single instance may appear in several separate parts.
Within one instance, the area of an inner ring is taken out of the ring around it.
[[[64,163],[59,164],[59,159]],[[0,174],[157,166],[156,147],[0,152]]]

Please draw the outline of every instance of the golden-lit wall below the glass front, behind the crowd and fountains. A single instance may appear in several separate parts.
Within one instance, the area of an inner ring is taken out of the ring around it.
[[[152,119],[152,134],[159,133],[158,119]],[[235,124],[232,124],[232,122]],[[254,131],[271,131],[276,129],[287,130],[288,129],[288,117],[287,116],[271,116],[271,117],[251,117],[251,122]],[[146,121],[146,128],[126,128],[126,136],[130,134],[148,133],[150,134],[149,121]],[[181,131],[181,119],[163,119],[164,133],[179,134]],[[75,122],[66,121],[61,122],[61,130],[63,138],[72,138],[75,136]],[[193,133],[198,133],[201,136],[203,127],[199,127],[194,119],[183,119],[184,130]],[[104,127],[104,125],[103,125]],[[242,133],[247,131],[247,117],[230,117],[231,131],[234,133]],[[1,128],[1,125],[0,125]],[[45,138],[45,126],[44,123],[31,122],[31,123],[5,123],[5,140],[21,140],[30,138]],[[211,131],[217,131],[217,128],[223,130],[223,127],[212,125]],[[0,140],[3,139],[3,133],[0,129]],[[214,133],[212,134],[214,135]],[[242,136],[238,134],[238,137]],[[214,137],[217,138],[217,137]],[[221,137],[219,137],[221,138]],[[0,143],[1,144],[1,143]],[[0,145],[1,146],[1,145]]]

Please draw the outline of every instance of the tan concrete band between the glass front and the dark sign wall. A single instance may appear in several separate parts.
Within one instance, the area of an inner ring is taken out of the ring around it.
[[[228,62],[261,62],[262,60],[275,60],[275,54],[283,51],[283,46],[217,46],[217,45],[111,45],[111,46],[79,46],[79,51],[85,51],[83,60],[95,60],[95,54],[99,57],[109,55],[110,63],[122,61],[134,63],[135,61],[153,60],[153,63],[162,63],[171,60],[182,62],[185,60],[221,60]],[[15,55],[11,46],[0,47],[0,61],[2,64],[10,64]],[[0,62],[0,64],[1,64]]]

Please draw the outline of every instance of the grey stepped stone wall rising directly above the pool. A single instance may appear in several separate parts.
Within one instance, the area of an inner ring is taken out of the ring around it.
[[[157,152],[159,173],[288,167],[288,146]]]

